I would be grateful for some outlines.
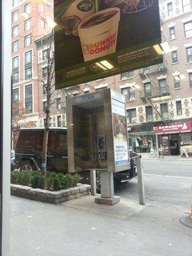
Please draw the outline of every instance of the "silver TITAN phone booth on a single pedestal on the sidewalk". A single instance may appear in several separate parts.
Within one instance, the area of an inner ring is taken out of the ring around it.
[[[112,89],[67,99],[68,172],[100,171],[98,204],[115,204],[113,172],[130,168],[125,97]]]

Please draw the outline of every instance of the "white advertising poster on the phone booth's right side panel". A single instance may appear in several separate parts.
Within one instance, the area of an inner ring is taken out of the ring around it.
[[[127,125],[125,115],[125,104],[117,100],[111,100],[113,113],[113,141],[115,164],[129,163],[128,144],[127,144]]]

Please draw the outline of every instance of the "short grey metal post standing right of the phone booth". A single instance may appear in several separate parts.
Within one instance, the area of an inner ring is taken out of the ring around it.
[[[145,205],[145,187],[143,181],[143,164],[141,163],[141,158],[136,159],[137,162],[137,172],[138,172],[138,193],[140,204]]]

